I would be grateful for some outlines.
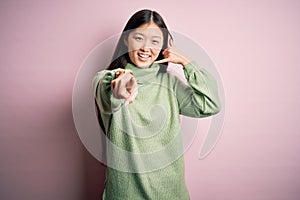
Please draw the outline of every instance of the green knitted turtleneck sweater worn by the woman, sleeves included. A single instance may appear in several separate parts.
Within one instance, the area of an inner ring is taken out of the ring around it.
[[[103,70],[93,88],[105,127],[107,170],[103,199],[185,200],[180,114],[206,117],[219,112],[216,81],[191,62],[183,70],[188,85],[160,72],[158,64],[127,64],[138,80],[138,95],[124,105],[110,91],[118,70]]]

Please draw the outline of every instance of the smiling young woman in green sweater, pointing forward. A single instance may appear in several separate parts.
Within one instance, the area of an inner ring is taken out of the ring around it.
[[[170,62],[183,67],[188,85],[166,71]],[[180,115],[219,112],[217,84],[174,47],[157,12],[129,19],[93,88],[108,145],[103,199],[189,199]]]

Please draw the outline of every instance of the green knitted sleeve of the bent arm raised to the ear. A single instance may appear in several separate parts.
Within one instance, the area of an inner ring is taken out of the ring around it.
[[[216,80],[204,69],[191,62],[184,68],[188,85],[177,80],[175,92],[180,114],[190,117],[206,117],[220,111]]]

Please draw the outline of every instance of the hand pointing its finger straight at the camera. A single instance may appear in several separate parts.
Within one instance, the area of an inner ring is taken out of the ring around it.
[[[138,94],[137,81],[130,71],[125,70],[112,80],[111,91],[115,98],[125,99],[125,105],[131,104]]]

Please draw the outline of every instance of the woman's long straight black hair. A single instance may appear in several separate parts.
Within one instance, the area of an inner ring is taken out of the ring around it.
[[[168,48],[169,37],[172,40],[172,35],[170,34],[163,18],[156,11],[144,9],[137,11],[132,17],[128,20],[125,28],[122,31],[120,39],[115,48],[115,52],[112,57],[112,61],[108,66],[108,70],[117,69],[117,68],[125,68],[126,64],[131,62],[128,55],[128,48],[125,45],[125,39],[127,39],[129,33],[134,29],[138,28],[143,24],[147,24],[150,22],[154,22],[158,27],[160,27],[163,32],[163,46],[157,57],[157,60],[164,59],[162,54],[163,50]],[[168,63],[160,64],[160,71],[166,71]]]

